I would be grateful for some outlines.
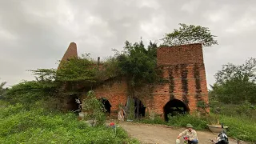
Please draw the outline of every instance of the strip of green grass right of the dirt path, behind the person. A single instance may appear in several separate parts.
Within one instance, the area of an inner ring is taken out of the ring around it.
[[[225,126],[229,126],[226,131],[231,138],[238,138],[247,142],[256,142],[256,119],[244,118],[238,116],[228,116],[222,114],[210,114],[210,117],[198,116],[196,114],[184,114],[169,117],[169,122],[165,122],[162,118],[145,118],[138,122],[148,124],[164,124],[174,127],[186,127],[187,123],[194,126],[194,130],[208,130],[207,124],[214,122],[214,119],[218,118],[220,123]]]

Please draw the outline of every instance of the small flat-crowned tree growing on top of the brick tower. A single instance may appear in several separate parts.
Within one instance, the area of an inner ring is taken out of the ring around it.
[[[165,38],[162,38],[163,45],[177,46],[192,43],[202,43],[202,46],[218,45],[215,35],[210,33],[209,28],[202,26],[186,25],[179,23],[181,27],[179,30],[174,29],[174,32],[166,34]]]

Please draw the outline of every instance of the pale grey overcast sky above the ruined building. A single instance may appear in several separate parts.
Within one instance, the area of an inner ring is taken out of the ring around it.
[[[218,46],[204,48],[206,78],[227,62],[256,57],[255,0],[0,0],[0,82],[57,68],[70,42],[78,54],[106,58],[126,40],[157,41],[178,23],[209,27]]]

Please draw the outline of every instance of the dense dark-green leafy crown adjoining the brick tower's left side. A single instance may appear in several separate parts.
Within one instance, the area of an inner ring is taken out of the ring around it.
[[[125,42],[122,54],[115,50],[115,57],[118,59],[118,70],[120,74],[126,76],[131,87],[141,86],[147,82],[155,82],[157,72],[156,49],[157,45],[150,42],[146,49],[143,42]]]

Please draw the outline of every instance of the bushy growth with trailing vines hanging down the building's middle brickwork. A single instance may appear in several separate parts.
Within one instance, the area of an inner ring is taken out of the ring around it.
[[[152,98],[152,83],[158,81],[156,50],[156,43],[146,48],[142,41],[126,41],[124,50],[114,50],[114,57],[106,62],[105,74],[126,78],[129,98]]]

